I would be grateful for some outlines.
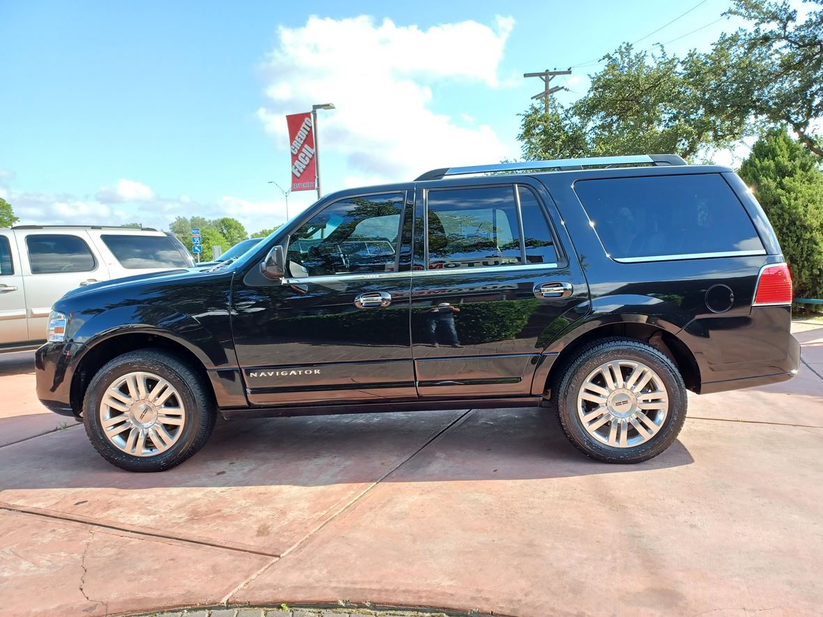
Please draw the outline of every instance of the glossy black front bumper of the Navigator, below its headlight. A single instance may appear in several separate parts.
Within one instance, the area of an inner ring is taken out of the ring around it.
[[[82,349],[76,343],[46,343],[35,351],[37,397],[48,409],[59,415],[79,418],[79,401],[72,404],[74,359]]]

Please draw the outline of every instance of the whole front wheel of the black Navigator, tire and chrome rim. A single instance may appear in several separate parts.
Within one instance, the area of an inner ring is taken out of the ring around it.
[[[161,350],[111,360],[86,391],[86,433],[108,462],[128,471],[165,471],[202,448],[215,421],[198,373]]]

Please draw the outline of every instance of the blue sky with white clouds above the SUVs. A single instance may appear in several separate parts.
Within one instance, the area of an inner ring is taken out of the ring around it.
[[[319,118],[325,193],[514,157],[542,89],[523,72],[593,60],[695,5],[0,0],[0,197],[21,223],[271,227],[284,114],[337,105]],[[709,49],[739,24],[707,26],[727,7],[704,0],[637,47]],[[573,70],[560,100],[597,66]],[[313,201],[295,193],[290,214]]]

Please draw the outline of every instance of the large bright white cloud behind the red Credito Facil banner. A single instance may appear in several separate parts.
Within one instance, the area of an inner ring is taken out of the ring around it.
[[[513,27],[511,17],[500,16],[494,26],[462,21],[428,30],[369,16],[313,16],[302,27],[281,26],[263,66],[268,102],[258,118],[286,146],[286,114],[335,104],[320,112],[321,164],[332,155],[343,160],[341,176],[398,181],[438,166],[501,160],[513,153],[491,127],[458,126],[435,113],[432,86],[498,87]]]

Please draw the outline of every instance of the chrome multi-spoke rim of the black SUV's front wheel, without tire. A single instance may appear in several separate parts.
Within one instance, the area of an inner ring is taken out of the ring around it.
[[[100,402],[109,442],[133,457],[156,457],[183,433],[183,398],[164,378],[138,371],[117,378]]]

